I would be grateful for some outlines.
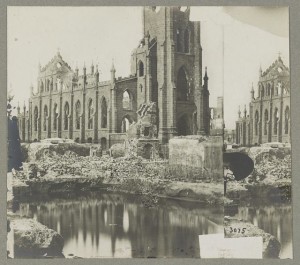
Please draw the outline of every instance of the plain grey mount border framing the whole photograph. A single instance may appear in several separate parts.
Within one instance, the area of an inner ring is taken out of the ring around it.
[[[290,71],[291,71],[291,139],[292,139],[292,204],[293,204],[293,256],[292,260],[233,260],[233,259],[45,259],[45,260],[28,260],[28,259],[7,259],[6,253],[6,167],[7,167],[7,127],[6,115],[4,111],[4,100],[7,93],[7,6],[143,6],[143,5],[162,5],[162,6],[180,6],[182,3],[188,6],[289,6],[290,17]],[[222,264],[222,265],[245,265],[250,264],[300,264],[300,1],[299,0],[172,0],[172,1],[132,1],[132,0],[1,0],[0,1],[0,89],[1,89],[1,111],[0,111],[0,146],[2,147],[0,174],[3,177],[2,185],[0,185],[0,224],[1,224],[1,244],[0,244],[0,260],[1,264]]]

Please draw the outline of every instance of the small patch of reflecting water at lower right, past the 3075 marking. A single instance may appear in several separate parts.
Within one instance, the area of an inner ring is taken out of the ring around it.
[[[235,217],[248,220],[275,236],[281,243],[280,258],[293,258],[293,223],[290,204],[238,207]]]

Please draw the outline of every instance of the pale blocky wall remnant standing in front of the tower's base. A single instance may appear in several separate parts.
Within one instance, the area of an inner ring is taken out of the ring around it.
[[[169,141],[169,164],[173,174],[207,181],[223,181],[222,137],[198,135]]]

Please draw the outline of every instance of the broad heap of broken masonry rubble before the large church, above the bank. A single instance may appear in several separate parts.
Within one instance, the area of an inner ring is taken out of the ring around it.
[[[133,152],[134,153],[134,152]],[[172,168],[163,159],[149,161],[140,156],[110,157],[108,155],[79,156],[67,151],[63,155],[55,151],[44,150],[39,160],[23,163],[23,171],[14,172],[19,179],[49,179],[58,176],[79,176],[86,178],[104,178],[107,182],[120,183],[124,179],[147,179],[157,181],[201,182],[196,177],[186,178],[172,174]]]

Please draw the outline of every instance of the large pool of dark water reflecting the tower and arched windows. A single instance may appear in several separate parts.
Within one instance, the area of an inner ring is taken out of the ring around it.
[[[199,257],[198,235],[223,231],[223,209],[162,200],[145,208],[130,196],[92,195],[20,204],[20,214],[60,233],[79,257]]]

